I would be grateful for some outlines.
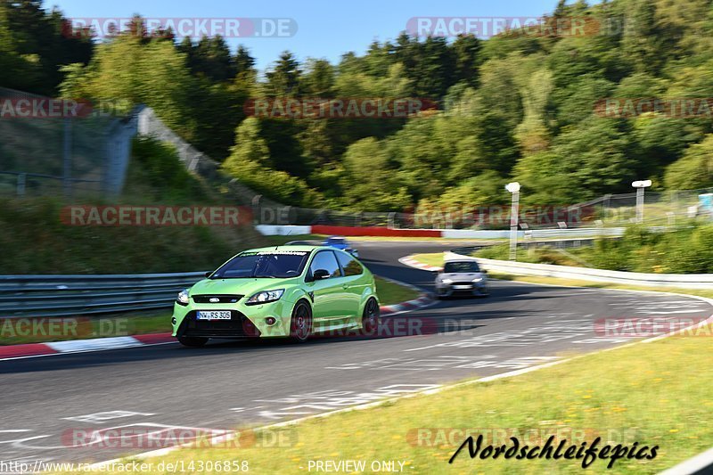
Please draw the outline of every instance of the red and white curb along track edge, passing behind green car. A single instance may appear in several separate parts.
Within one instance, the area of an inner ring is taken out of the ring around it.
[[[421,291],[413,285],[384,279],[389,282],[398,283],[404,287],[409,287]],[[401,302],[397,305],[381,306],[379,308],[381,316],[397,315],[416,308],[427,307],[433,303],[433,299],[422,293],[418,299]],[[147,347],[152,345],[164,345],[176,342],[176,338],[170,333],[149,333],[146,335],[133,335],[125,337],[93,338],[88,340],[66,340],[51,341],[48,343],[28,343],[24,345],[0,346],[0,361],[8,359],[31,358],[36,356],[53,356],[66,353],[86,353],[88,351],[105,351],[109,349]]]

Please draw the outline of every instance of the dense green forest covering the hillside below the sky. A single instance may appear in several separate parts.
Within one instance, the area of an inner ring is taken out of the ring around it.
[[[477,206],[508,196],[573,203],[713,186],[711,117],[602,117],[602,98],[713,98],[713,1],[553,5],[550,19],[622,28],[581,36],[513,30],[489,39],[394,32],[338,64],[284,52],[264,73],[221,37],[178,41],[141,18],[102,41],[70,31],[41,1],[0,3],[0,86],[151,106],[258,192],[306,207]],[[315,52],[318,55],[319,52]],[[391,119],[246,117],[254,98],[428,98],[437,111]]]

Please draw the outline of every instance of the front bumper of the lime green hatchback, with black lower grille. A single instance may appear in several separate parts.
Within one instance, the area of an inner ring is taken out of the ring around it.
[[[239,297],[239,296],[238,296]],[[173,336],[203,338],[271,338],[290,336],[290,321],[294,302],[279,299],[260,305],[245,305],[247,297],[231,303],[199,303],[190,300],[188,305],[174,304]],[[230,320],[198,320],[198,311],[227,310]],[[269,324],[270,317],[275,323]]]

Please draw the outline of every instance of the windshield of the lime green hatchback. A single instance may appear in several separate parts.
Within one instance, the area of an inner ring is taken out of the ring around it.
[[[307,264],[309,252],[300,250],[248,251],[226,262],[210,275],[211,279],[250,277],[297,277]]]

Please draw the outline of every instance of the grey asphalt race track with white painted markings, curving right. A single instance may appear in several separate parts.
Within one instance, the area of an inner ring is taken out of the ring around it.
[[[375,274],[427,290],[432,274],[397,259],[451,247],[356,243]],[[77,430],[225,430],[283,422],[631,340],[594,332],[597,319],[713,313],[701,300],[668,295],[510,282],[491,283],[491,292],[488,299],[441,301],[390,317],[379,338],[206,348],[171,343],[0,362],[0,460],[99,462],[160,446],[74,447]]]

